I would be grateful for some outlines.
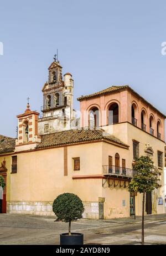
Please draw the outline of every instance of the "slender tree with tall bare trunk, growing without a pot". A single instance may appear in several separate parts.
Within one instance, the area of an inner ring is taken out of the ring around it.
[[[129,192],[143,193],[142,200],[142,244],[144,244],[144,199],[146,192],[152,192],[155,188],[159,188],[158,178],[152,173],[154,169],[152,159],[146,155],[136,159],[134,164],[134,175],[131,183],[129,184]]]

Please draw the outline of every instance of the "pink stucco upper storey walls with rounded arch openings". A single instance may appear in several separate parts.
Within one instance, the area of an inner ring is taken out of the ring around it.
[[[142,97],[128,89],[82,99],[80,101],[81,127],[89,126],[89,113],[93,108],[98,109],[98,126],[108,125],[108,109],[113,103],[118,104],[118,123],[132,123],[131,112],[133,106],[134,118],[137,122],[136,126],[142,129],[141,113],[143,113],[145,132],[150,133],[151,128],[154,137],[158,137],[158,134],[160,134],[160,139],[164,141],[164,115],[144,101]],[[151,127],[150,118],[152,120]]]

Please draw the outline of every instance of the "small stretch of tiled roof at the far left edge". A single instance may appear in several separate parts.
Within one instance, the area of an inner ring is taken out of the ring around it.
[[[15,139],[0,135],[0,153],[13,152],[15,148]]]

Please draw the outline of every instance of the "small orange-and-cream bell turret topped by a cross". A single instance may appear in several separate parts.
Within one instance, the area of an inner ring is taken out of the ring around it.
[[[38,135],[38,116],[38,112],[30,111],[29,102],[25,112],[17,116],[18,138],[15,140],[15,151],[33,149],[41,142]]]

